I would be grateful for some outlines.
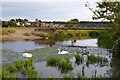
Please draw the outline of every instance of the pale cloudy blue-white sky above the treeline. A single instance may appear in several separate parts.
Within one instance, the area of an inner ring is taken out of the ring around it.
[[[77,18],[79,21],[92,21],[93,13],[85,7],[86,1],[95,8],[96,2],[102,0],[2,0],[1,19],[68,21]]]

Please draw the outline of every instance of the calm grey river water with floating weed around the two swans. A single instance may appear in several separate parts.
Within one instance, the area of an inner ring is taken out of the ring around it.
[[[85,40],[75,40],[75,41],[56,41],[55,44],[51,46],[51,44],[38,44],[35,41],[7,41],[2,43],[2,62],[3,64],[8,64],[14,62],[19,59],[23,59],[20,54],[22,52],[30,52],[33,55],[35,69],[38,70],[39,75],[43,78],[48,76],[53,76],[55,78],[62,77],[64,73],[61,73],[60,70],[56,67],[47,67],[46,66],[46,58],[50,55],[58,55],[57,49],[67,50],[70,54],[76,54],[77,51],[80,51],[80,47],[86,47],[87,50],[94,54],[106,57],[109,62],[99,66],[97,64],[91,64],[89,67],[85,66],[85,63],[81,65],[75,64],[75,58],[73,56],[69,56],[72,64],[73,70],[70,73],[77,74],[78,72],[82,74],[81,69],[82,66],[85,66],[85,75],[87,77],[93,76],[94,71],[97,71],[98,76],[110,76],[110,62],[111,55],[107,49],[100,48],[97,45],[97,39],[85,39]]]

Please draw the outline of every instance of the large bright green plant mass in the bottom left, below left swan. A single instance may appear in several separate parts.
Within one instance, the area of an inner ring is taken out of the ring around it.
[[[38,72],[34,70],[32,58],[26,60],[18,60],[15,63],[10,64],[7,67],[2,68],[3,78],[18,78],[18,74],[22,73],[23,76],[28,78],[38,78]]]

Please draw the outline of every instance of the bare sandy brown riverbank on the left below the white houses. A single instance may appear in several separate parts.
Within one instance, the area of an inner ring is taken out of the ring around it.
[[[11,29],[11,28],[2,28],[3,29]],[[11,33],[8,35],[0,35],[0,40],[34,40],[41,39],[39,36],[32,35],[34,31],[34,27],[15,27],[15,33]],[[28,35],[25,35],[28,34]]]

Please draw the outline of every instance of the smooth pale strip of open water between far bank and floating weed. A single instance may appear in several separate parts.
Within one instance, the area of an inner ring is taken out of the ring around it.
[[[97,39],[86,39],[86,40],[68,40],[68,41],[6,41],[2,44],[2,49],[10,49],[15,52],[22,52],[25,50],[34,50],[38,48],[46,48],[53,46],[93,46],[97,47]]]

